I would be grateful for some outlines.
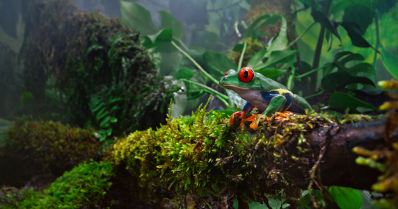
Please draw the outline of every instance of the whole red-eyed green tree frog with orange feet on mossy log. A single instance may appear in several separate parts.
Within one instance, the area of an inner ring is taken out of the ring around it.
[[[233,90],[246,100],[241,111],[231,115],[229,124],[233,123],[235,117],[246,118],[246,113],[250,113],[253,108],[257,108],[262,115],[271,117],[275,112],[288,111],[305,113],[305,110],[312,110],[310,104],[303,98],[290,92],[285,85],[282,85],[271,78],[266,78],[260,73],[256,73],[250,67],[244,67],[236,72],[230,69],[220,80],[220,85],[228,90]],[[250,128],[257,128],[260,117],[253,115],[245,121],[252,121]]]

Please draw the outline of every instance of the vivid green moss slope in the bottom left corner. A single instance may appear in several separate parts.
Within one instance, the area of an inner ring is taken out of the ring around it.
[[[42,192],[22,190],[0,195],[4,208],[100,208],[111,187],[109,162],[83,162]]]

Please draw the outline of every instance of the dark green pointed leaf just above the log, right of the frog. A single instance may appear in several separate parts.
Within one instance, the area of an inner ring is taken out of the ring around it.
[[[352,97],[344,92],[335,92],[332,94],[332,96],[329,98],[329,104],[326,108],[341,108],[344,110],[349,108],[349,110],[353,112],[366,112],[366,110],[364,110],[365,108],[380,112],[378,108],[372,106],[371,104],[360,101],[359,99],[356,99],[355,97]]]

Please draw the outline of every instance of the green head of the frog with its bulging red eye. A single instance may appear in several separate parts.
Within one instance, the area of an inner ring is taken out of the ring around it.
[[[242,90],[260,90],[260,76],[250,67],[244,67],[239,72],[228,70],[220,80],[220,85],[234,92]]]

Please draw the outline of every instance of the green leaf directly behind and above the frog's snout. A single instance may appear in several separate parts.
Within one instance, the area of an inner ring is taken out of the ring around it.
[[[214,51],[206,51],[203,54],[203,61],[208,72],[216,77],[223,76],[230,69],[237,69],[237,65],[227,56],[222,53],[215,53]]]

